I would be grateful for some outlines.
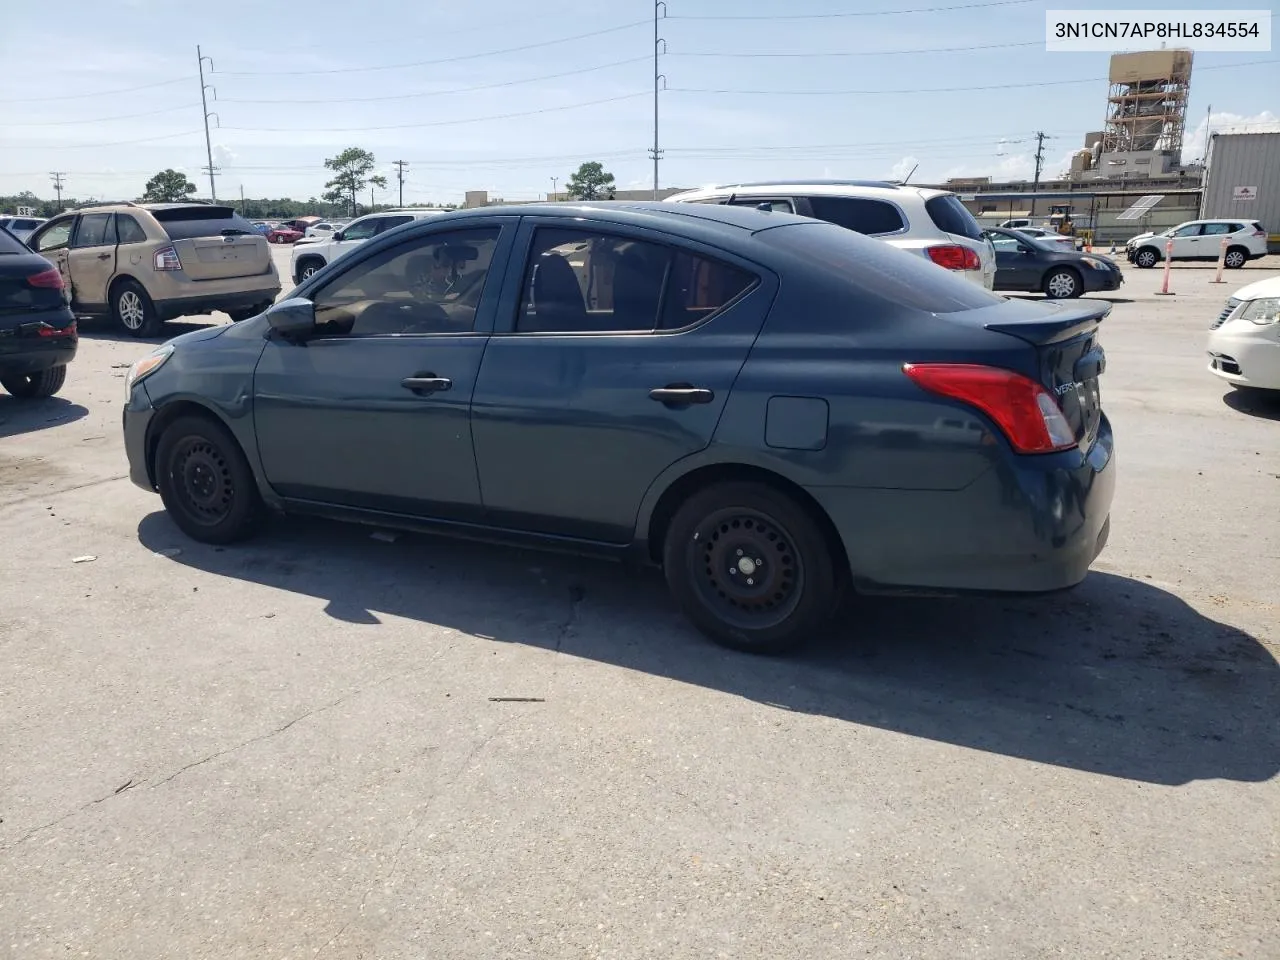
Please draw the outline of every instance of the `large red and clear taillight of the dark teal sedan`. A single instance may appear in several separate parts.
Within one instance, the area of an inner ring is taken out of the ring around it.
[[[904,364],[902,372],[931,393],[980,410],[1019,453],[1052,453],[1075,445],[1075,434],[1048,390],[1012,370],[977,364]]]

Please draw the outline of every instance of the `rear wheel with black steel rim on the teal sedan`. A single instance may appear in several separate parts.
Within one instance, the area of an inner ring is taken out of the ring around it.
[[[690,497],[667,527],[662,558],[685,616],[735,650],[797,650],[838,599],[822,529],[795,499],[764,484],[717,484]]]

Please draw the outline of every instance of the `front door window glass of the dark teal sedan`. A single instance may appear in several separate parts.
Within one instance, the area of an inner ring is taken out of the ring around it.
[[[498,227],[415,238],[344,270],[315,296],[320,337],[470,333]]]

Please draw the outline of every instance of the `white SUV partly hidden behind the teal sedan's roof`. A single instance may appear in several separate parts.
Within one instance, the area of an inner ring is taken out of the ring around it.
[[[726,183],[667,197],[673,204],[760,206],[828,220],[874,237],[988,291],[996,251],[955,193],[884,180]]]

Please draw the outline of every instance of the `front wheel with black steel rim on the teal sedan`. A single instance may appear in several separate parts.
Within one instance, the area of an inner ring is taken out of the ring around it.
[[[234,543],[262,521],[262,498],[244,452],[209,417],[184,416],[165,428],[155,477],[165,509],[192,540]]]

